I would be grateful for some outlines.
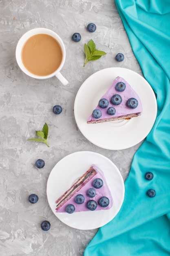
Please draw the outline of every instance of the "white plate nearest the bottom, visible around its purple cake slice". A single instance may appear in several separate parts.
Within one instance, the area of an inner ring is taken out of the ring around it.
[[[56,213],[55,201],[92,164],[97,164],[102,169],[113,198],[113,206],[108,210],[100,211]],[[124,181],[118,168],[110,159],[95,152],[79,151],[67,155],[54,166],[47,181],[46,192],[53,213],[66,225],[76,229],[96,229],[108,223],[119,212],[124,201]]]

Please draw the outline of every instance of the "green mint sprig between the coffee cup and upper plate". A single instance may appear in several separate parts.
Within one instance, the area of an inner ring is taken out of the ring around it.
[[[84,53],[86,56],[84,67],[88,63],[88,61],[95,61],[101,58],[103,55],[106,55],[106,52],[96,49],[96,45],[92,39],[88,42],[87,45],[86,43],[84,44]]]

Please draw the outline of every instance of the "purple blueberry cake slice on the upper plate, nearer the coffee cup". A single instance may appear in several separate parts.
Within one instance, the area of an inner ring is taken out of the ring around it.
[[[139,96],[124,78],[117,76],[99,100],[87,123],[130,119],[141,115],[141,113],[142,104]]]

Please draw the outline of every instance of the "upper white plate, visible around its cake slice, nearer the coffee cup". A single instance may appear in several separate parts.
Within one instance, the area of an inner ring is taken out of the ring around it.
[[[123,77],[141,99],[141,116],[130,120],[87,124],[87,119],[96,108],[113,80]],[[84,137],[96,146],[109,150],[130,148],[148,135],[155,123],[157,101],[149,83],[139,74],[122,67],[100,70],[86,79],[79,88],[74,104],[75,120]]]

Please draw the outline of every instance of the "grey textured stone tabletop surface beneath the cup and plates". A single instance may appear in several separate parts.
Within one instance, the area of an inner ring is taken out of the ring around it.
[[[89,33],[89,22],[97,25]],[[66,47],[62,74],[64,86],[55,77],[39,81],[26,76],[15,60],[19,38],[29,29],[45,27],[55,31]],[[82,40],[71,40],[79,32]],[[84,65],[84,43],[93,39],[107,52]],[[122,52],[125,60],[115,61]],[[107,67],[125,67],[141,74],[117,12],[114,0],[0,0],[0,255],[2,256],[82,256],[95,230],[66,226],[51,211],[46,198],[46,182],[55,164],[66,155],[89,150],[101,153],[119,168],[124,180],[139,144],[126,150],[105,150],[89,142],[77,128],[73,106],[82,83],[94,72]],[[60,115],[53,106],[63,107]],[[49,145],[26,141],[49,125]],[[44,159],[38,169],[35,161]],[[28,196],[39,201],[30,204]],[[49,231],[40,223],[51,222]]]

